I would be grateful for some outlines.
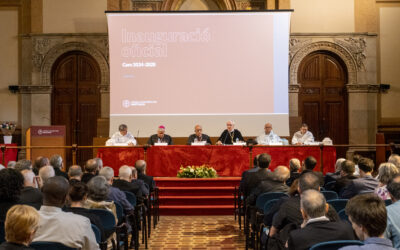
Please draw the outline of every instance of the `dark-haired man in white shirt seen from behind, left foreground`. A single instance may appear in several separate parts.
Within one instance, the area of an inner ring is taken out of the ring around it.
[[[59,242],[78,249],[98,249],[88,218],[61,210],[67,199],[68,181],[61,176],[44,182],[39,228],[33,241]]]

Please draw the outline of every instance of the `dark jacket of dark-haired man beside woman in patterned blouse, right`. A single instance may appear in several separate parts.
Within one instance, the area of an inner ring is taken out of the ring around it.
[[[354,179],[343,189],[341,198],[350,199],[357,194],[374,192],[378,184],[378,180],[370,175]]]

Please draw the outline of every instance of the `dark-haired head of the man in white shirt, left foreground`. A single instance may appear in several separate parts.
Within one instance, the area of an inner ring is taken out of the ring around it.
[[[42,168],[43,169],[43,168]],[[63,207],[67,198],[69,183],[62,176],[54,176],[44,182],[42,187],[43,205]]]

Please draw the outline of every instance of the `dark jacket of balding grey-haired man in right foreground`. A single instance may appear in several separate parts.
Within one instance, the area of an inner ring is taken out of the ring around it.
[[[320,242],[355,239],[353,229],[347,222],[316,221],[291,231],[288,246],[291,250],[305,250]]]

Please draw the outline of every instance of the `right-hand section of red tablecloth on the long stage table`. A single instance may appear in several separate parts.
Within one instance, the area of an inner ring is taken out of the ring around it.
[[[323,171],[324,174],[328,172],[335,171],[335,162],[336,162],[336,149],[333,146],[324,146],[323,147]],[[317,166],[315,167],[315,171],[321,170],[321,149],[316,146],[257,146],[253,148],[252,155],[253,157],[261,154],[267,153],[271,155],[271,163],[269,168],[271,170],[275,169],[279,165],[289,166],[289,160],[292,158],[297,158],[300,161],[303,161],[308,156],[313,156],[317,159]]]

